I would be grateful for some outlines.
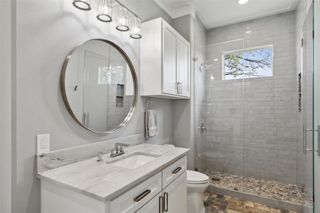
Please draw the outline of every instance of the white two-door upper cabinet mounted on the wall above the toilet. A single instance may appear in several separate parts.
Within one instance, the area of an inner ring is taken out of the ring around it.
[[[190,44],[162,18],[142,23],[141,96],[190,96]]]

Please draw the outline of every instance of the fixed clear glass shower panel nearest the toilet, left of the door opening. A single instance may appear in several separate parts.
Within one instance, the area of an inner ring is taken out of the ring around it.
[[[206,87],[206,170],[215,187],[243,192],[243,78],[228,78],[235,74],[225,59],[234,52],[243,52],[243,39],[206,45],[195,70]]]

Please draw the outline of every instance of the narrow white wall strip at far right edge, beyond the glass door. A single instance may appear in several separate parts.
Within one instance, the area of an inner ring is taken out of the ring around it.
[[[320,1],[314,1],[314,125],[320,125]],[[316,137],[315,137],[316,143]],[[320,149],[320,147],[314,147]],[[320,157],[314,155],[314,212],[320,212]]]

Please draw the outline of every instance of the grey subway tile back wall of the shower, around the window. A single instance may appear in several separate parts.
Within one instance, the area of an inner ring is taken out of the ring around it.
[[[296,183],[295,12],[207,30],[205,40],[206,150],[225,156],[207,158],[207,169]],[[222,51],[269,44],[273,76],[222,80]]]

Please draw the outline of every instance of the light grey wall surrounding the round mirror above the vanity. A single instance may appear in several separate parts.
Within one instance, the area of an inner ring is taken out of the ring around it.
[[[153,1],[121,2],[142,21],[162,16],[172,23]],[[144,132],[145,97],[138,98],[131,120],[109,135],[83,129],[64,106],[59,83],[62,63],[73,47],[89,39],[103,38],[119,45],[131,59],[139,82],[140,41],[130,38],[129,32],[117,31],[115,21],[98,21],[95,17],[98,0],[91,0],[91,5],[92,10],[87,12],[73,7],[71,0],[17,0],[16,9],[12,9],[13,18],[16,17],[16,24],[11,26],[11,30],[16,29],[16,37],[12,38],[16,43],[16,48],[12,48],[12,54],[16,54],[12,63],[16,80],[11,82],[12,90],[16,90],[16,98],[12,96],[16,99],[12,106],[12,113],[16,114],[12,120],[13,127],[16,124],[16,129],[12,129],[12,144],[16,144],[12,150],[12,212],[40,212],[40,182],[34,175],[36,135],[50,134],[50,149],[58,150]],[[116,12],[113,16],[115,19]],[[159,136],[147,143],[171,143],[171,101],[153,100],[151,107],[158,110]]]

